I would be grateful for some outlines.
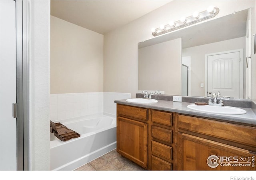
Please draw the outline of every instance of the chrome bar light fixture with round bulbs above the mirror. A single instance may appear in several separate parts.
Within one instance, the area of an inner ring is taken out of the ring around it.
[[[219,13],[219,8],[216,8],[214,6],[209,6],[207,10],[204,10],[202,12],[194,12],[192,16],[188,17],[182,17],[178,21],[171,21],[169,24],[161,25],[159,28],[152,28],[152,35],[153,36],[159,36],[161,34],[165,34],[167,32],[172,32],[174,30],[183,28],[185,26],[189,26],[191,24],[194,24],[196,22],[200,22],[209,18],[215,17]]]

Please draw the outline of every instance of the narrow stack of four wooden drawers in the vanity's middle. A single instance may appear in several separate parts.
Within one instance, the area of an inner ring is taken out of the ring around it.
[[[174,151],[173,114],[150,110],[148,164],[150,170],[172,170]]]

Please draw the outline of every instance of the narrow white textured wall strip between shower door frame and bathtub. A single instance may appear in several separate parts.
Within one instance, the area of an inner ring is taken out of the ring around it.
[[[50,1],[30,1],[30,170],[50,170]]]

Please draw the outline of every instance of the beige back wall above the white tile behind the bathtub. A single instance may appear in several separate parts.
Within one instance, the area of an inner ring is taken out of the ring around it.
[[[51,94],[103,91],[103,35],[51,16]]]

